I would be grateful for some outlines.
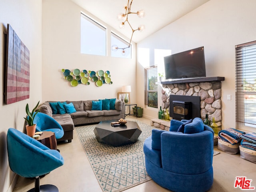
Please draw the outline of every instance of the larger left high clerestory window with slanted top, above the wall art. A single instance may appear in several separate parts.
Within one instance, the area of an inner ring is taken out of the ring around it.
[[[82,13],[81,53],[106,56],[106,28]]]

